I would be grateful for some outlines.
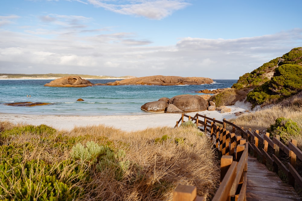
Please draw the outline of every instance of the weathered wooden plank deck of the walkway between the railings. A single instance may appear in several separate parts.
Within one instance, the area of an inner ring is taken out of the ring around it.
[[[246,200],[301,200],[294,188],[278,177],[275,172],[269,171],[256,158],[248,157]]]

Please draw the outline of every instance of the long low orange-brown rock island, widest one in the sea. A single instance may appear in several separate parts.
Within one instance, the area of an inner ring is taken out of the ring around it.
[[[105,84],[96,85],[185,85],[185,84],[210,84],[213,80],[206,77],[178,77],[178,76],[148,76],[136,77],[126,80],[117,80]]]

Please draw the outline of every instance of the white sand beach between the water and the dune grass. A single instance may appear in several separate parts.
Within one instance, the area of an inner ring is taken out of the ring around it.
[[[229,113],[221,114],[220,111],[200,111],[200,115],[215,118],[222,121],[223,118],[236,118],[235,112],[250,110],[249,105],[237,103]],[[187,113],[194,116],[196,112]],[[14,123],[25,123],[32,125],[46,124],[58,130],[71,130],[75,126],[104,124],[125,131],[143,130],[148,127],[169,126],[174,127],[181,114],[150,113],[146,115],[118,115],[118,116],[76,116],[76,115],[19,115],[0,113],[0,121],[11,121]]]

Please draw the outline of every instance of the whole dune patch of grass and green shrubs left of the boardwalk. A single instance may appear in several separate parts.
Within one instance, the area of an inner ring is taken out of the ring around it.
[[[218,159],[194,127],[0,129],[2,200],[172,200],[178,184],[210,198],[218,186]]]

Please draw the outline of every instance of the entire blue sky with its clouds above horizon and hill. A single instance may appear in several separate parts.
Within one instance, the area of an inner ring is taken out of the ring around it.
[[[239,79],[302,47],[301,0],[0,0],[0,73]]]

